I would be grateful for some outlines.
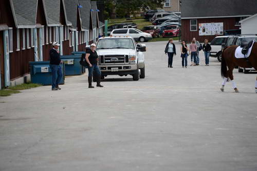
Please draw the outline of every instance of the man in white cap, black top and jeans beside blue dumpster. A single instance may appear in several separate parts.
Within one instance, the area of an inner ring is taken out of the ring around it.
[[[63,62],[60,59],[60,52],[59,52],[60,44],[58,42],[52,43],[52,49],[50,50],[50,67],[52,70],[52,90],[60,90],[59,83],[62,79],[62,68],[60,64]]]

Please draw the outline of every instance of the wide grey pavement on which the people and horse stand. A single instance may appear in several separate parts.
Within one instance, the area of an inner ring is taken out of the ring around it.
[[[220,63],[168,68],[166,42],[146,43],[145,79],[87,75],[0,97],[0,170],[257,170],[256,74]],[[190,62],[190,58],[188,59]]]

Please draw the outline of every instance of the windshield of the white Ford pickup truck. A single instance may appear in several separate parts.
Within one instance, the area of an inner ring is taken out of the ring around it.
[[[132,39],[128,38],[111,38],[111,39],[100,39],[97,43],[97,49],[135,49]]]

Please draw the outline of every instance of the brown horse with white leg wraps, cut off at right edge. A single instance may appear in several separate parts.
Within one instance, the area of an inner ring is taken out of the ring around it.
[[[235,92],[239,92],[233,78],[233,69],[235,66],[240,66],[242,68],[253,67],[255,70],[257,70],[257,43],[254,42],[251,54],[247,59],[235,58],[235,49],[237,47],[238,46],[228,46],[222,52],[221,74],[222,78],[224,78],[221,88],[222,91],[224,91],[226,82],[231,81]],[[257,77],[255,80],[255,92],[257,93]]]

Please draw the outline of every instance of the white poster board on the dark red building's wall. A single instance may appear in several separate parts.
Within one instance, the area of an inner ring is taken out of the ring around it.
[[[223,23],[199,23],[199,35],[223,35]]]

